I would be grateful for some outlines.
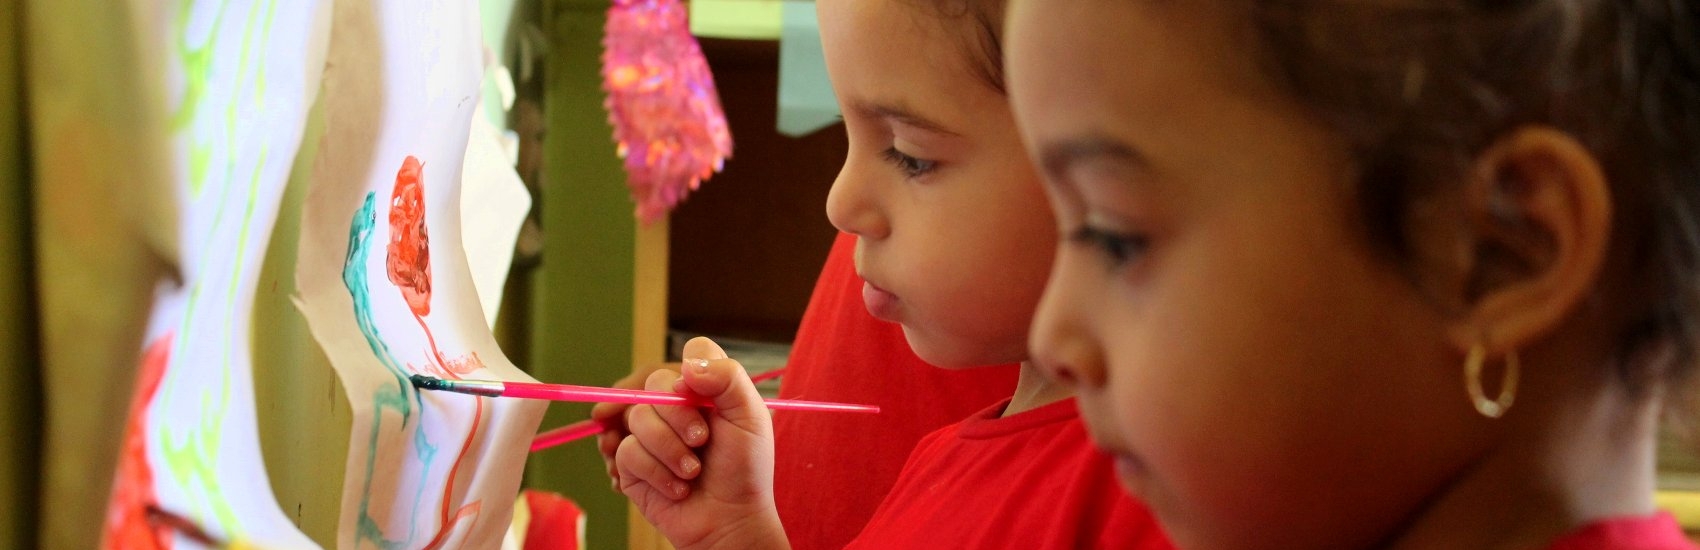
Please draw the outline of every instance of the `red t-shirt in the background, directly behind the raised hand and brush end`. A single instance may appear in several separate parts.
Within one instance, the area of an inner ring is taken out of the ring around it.
[[[898,480],[915,441],[1015,392],[1017,365],[944,370],[862,306],[855,236],[838,234],[779,396],[865,402],[881,414],[774,414],[774,499],[796,550],[843,548]]]

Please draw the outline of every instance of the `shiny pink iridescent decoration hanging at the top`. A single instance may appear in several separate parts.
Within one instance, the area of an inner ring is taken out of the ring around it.
[[[604,105],[638,219],[651,222],[721,171],[733,136],[678,0],[614,0],[602,46]]]

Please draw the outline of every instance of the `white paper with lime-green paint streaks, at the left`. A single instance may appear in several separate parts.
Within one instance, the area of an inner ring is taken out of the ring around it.
[[[156,59],[163,61],[167,104],[158,109],[167,112],[182,205],[182,282],[162,283],[156,292],[146,341],[168,345],[168,355],[158,387],[141,396],[144,414],[131,428],[139,426],[146,465],[121,465],[119,484],[124,472],[146,469],[151,482],[131,485],[151,485],[146,506],[182,516],[218,540],[311,548],[267,482],[250,333],[260,263],[318,92],[330,3],[133,5],[139,36],[158,46]],[[114,501],[109,521],[138,518],[138,504]],[[185,542],[177,536],[178,545]]]

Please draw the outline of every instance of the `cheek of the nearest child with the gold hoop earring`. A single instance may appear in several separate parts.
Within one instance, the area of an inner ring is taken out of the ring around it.
[[[1438,475],[1409,457],[1435,450],[1425,418],[1452,404],[1440,324],[1340,250],[1200,239],[1105,299],[1114,414],[1153,508],[1193,535],[1350,538],[1397,514],[1362,502],[1414,502]]]

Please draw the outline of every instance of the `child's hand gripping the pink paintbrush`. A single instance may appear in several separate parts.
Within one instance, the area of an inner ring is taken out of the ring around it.
[[[774,419],[762,396],[714,341],[694,338],[683,356],[683,372],[656,370],[646,389],[697,394],[714,407],[627,409],[631,436],[614,457],[620,492],[678,548],[784,548]]]

